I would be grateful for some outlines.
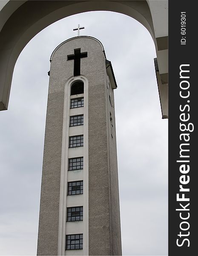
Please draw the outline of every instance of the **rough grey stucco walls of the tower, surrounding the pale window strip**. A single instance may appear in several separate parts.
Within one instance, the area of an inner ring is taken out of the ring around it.
[[[89,81],[89,255],[121,255],[116,142],[114,138],[109,144],[105,56],[99,42],[88,37],[65,42],[52,56],[37,255],[57,255],[64,85],[74,67],[67,55],[76,48],[88,52],[81,59],[81,74]]]

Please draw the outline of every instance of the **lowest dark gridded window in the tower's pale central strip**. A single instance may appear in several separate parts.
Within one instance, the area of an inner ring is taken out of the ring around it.
[[[83,234],[66,235],[66,250],[83,249]]]

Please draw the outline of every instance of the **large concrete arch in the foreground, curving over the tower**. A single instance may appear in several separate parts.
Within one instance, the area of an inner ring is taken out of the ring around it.
[[[162,116],[167,117],[167,1],[1,1],[0,110],[7,110],[14,65],[26,44],[45,27],[80,12],[112,11],[138,20],[150,32],[156,48],[156,74]]]

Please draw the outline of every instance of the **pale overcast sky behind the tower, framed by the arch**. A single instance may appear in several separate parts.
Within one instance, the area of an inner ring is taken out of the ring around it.
[[[0,255],[36,255],[49,58],[58,44],[90,35],[112,62],[123,255],[167,255],[168,122],[161,118],[151,35],[114,12],[60,20],[37,34],[14,68],[0,111]]]

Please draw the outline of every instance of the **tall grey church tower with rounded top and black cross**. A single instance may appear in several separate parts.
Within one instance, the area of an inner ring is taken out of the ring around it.
[[[121,255],[111,62],[87,36],[50,61],[37,255]]]

